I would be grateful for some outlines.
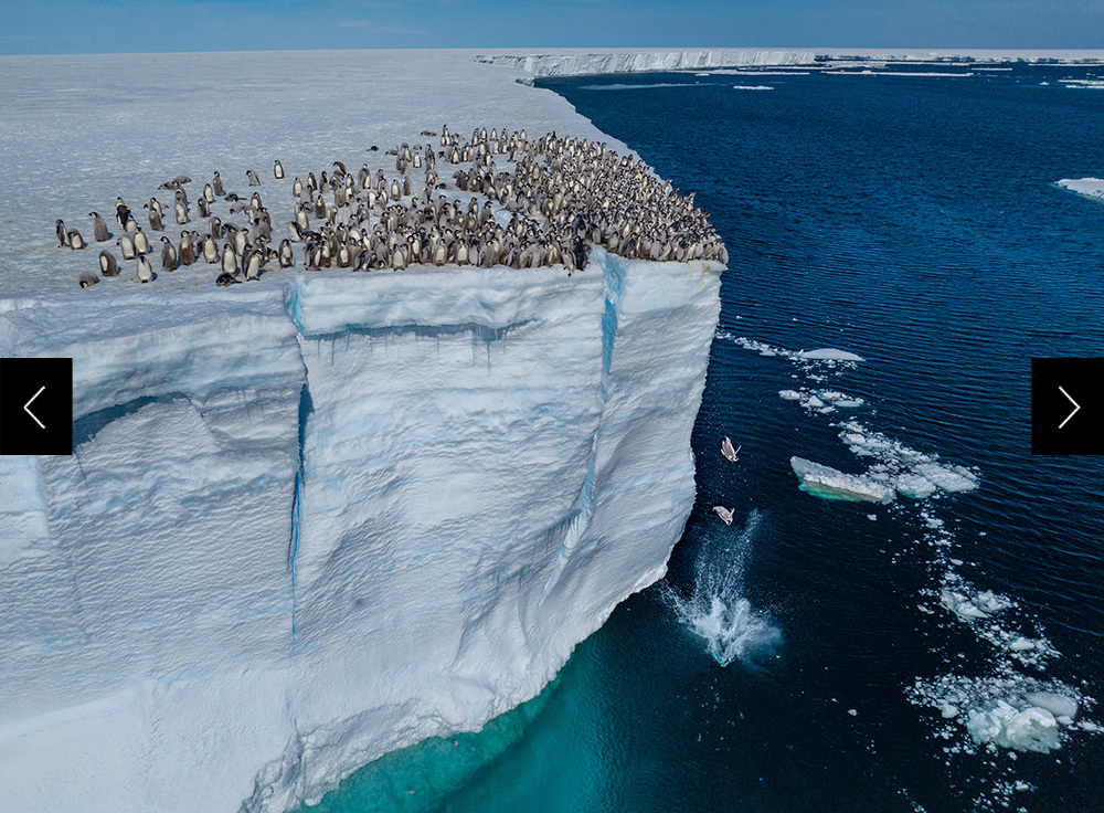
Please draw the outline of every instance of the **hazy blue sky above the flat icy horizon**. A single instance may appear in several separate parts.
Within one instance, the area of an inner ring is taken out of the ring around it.
[[[0,54],[1102,49],[1104,0],[0,0]]]

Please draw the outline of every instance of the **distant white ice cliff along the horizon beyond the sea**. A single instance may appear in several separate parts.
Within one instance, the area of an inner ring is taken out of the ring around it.
[[[496,54],[479,62],[510,65],[533,76],[580,76],[603,73],[684,71],[751,65],[804,65],[816,61],[814,51],[612,51],[603,53]]]

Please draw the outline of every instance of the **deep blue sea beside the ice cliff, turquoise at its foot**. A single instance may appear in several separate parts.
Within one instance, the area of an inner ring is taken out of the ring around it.
[[[1032,457],[1029,425],[1033,356],[1104,356],[1104,205],[1054,183],[1104,176],[1104,89],[1061,82],[1104,70],[893,70],[972,75],[540,83],[729,249],[698,501],[539,698],[320,810],[1104,811],[1104,458]],[[794,455],[976,487],[828,500]]]

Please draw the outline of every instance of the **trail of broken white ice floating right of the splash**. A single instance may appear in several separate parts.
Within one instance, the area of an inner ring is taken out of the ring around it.
[[[856,369],[862,359],[854,353],[832,348],[792,351],[724,332],[718,332],[716,338],[792,362],[804,386],[781,390],[778,397],[806,414],[831,414],[864,405],[862,399],[826,386],[830,378]],[[843,418],[830,425],[867,468],[861,474],[847,474],[795,456],[790,466],[799,487],[824,499],[890,503],[900,494],[913,500],[894,503],[893,510],[916,510],[919,542],[926,548],[927,569],[934,576],[934,583],[921,591],[916,609],[936,619],[944,630],[967,630],[981,645],[985,659],[979,667],[968,668],[964,653],[948,650],[946,672],[935,677],[917,676],[905,687],[905,696],[930,715],[933,740],[941,743],[942,759],[948,767],[953,760],[972,760],[969,773],[984,790],[969,809],[1012,807],[1013,795],[1034,790],[1017,774],[1018,754],[1052,753],[1079,732],[1104,732],[1104,727],[1087,717],[1096,700],[1083,687],[1047,676],[1061,654],[1015,599],[985,589],[960,572],[966,562],[954,557],[957,540],[947,527],[948,519],[935,515],[940,505],[935,500],[945,494],[973,492],[980,472],[911,448],[858,418]],[[877,515],[868,518],[877,519]]]

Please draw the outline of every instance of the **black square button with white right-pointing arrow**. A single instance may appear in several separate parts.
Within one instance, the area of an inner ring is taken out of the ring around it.
[[[1104,455],[1104,358],[1031,359],[1031,454]]]

